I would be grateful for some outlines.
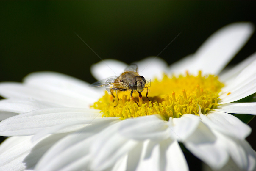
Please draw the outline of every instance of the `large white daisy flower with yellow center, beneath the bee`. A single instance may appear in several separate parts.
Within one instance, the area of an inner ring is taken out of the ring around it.
[[[236,102],[256,92],[256,54],[220,73],[253,30],[230,24],[171,66],[135,62],[151,79],[150,101],[134,92],[138,105],[130,92],[118,92],[117,103],[104,88],[54,72],[1,83],[0,135],[10,137],[0,170],[188,170],[181,145],[213,170],[255,170],[251,128],[232,114],[256,114],[256,103]],[[92,74],[102,80],[126,67],[104,60]]]

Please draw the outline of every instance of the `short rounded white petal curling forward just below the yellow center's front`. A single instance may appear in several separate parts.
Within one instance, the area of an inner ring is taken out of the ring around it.
[[[161,140],[169,137],[169,127],[158,115],[137,117],[122,121],[118,133],[135,140]]]

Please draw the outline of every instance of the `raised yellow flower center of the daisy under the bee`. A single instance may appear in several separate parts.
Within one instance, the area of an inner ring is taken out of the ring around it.
[[[92,107],[100,109],[102,117],[126,119],[160,114],[163,119],[168,120],[169,117],[178,118],[182,114],[199,115],[199,106],[201,112],[207,114],[218,106],[218,93],[222,87],[224,84],[218,81],[217,76],[202,76],[200,71],[198,76],[187,73],[186,76],[168,78],[164,75],[162,81],[155,79],[151,82],[148,93],[150,101],[145,97],[146,88],[141,93],[142,98],[138,97],[138,92],[133,93],[139,106],[130,100],[130,91],[118,92],[119,102],[117,97],[113,98],[106,91]]]

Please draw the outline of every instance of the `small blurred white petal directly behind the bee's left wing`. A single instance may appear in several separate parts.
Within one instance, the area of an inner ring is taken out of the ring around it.
[[[110,76],[119,76],[127,64],[114,59],[104,59],[91,66],[91,73],[97,80],[103,80]]]

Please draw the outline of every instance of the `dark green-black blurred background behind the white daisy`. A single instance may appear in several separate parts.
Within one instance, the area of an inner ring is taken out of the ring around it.
[[[102,59],[131,63],[157,56],[171,64],[213,32],[238,21],[256,25],[256,1],[0,1],[0,81],[51,70],[87,82]],[[256,51],[256,34],[234,65]],[[248,141],[254,149],[255,120]]]

